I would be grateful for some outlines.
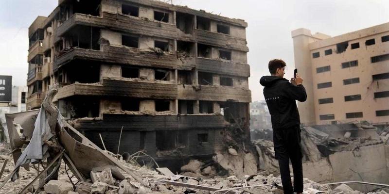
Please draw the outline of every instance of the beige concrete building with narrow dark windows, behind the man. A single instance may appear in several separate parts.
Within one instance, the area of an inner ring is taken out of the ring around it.
[[[308,95],[302,123],[389,122],[389,23],[335,37],[301,28],[292,38]]]

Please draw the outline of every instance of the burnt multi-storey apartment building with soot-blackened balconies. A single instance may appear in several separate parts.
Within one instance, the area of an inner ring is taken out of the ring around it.
[[[230,123],[249,137],[246,27],[155,0],[59,0],[29,28],[27,108],[58,83],[62,115],[102,148],[211,156]]]

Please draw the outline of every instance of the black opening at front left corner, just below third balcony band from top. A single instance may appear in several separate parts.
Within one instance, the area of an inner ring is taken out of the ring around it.
[[[100,99],[77,97],[72,101],[71,118],[98,117],[100,113]]]

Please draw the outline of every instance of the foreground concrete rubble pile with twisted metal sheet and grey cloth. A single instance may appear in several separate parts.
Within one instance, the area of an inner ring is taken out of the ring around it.
[[[159,168],[151,157],[155,169],[140,165],[134,155],[123,160],[66,123],[52,104],[55,94],[55,88],[50,90],[39,110],[6,115],[10,149],[3,147],[0,155],[0,194],[282,193],[281,178],[258,173],[256,156],[232,139],[213,162],[192,160],[180,175]],[[304,193],[360,193],[345,184],[332,185],[339,186],[332,189],[305,178]],[[377,193],[387,194],[388,185],[379,186]]]

